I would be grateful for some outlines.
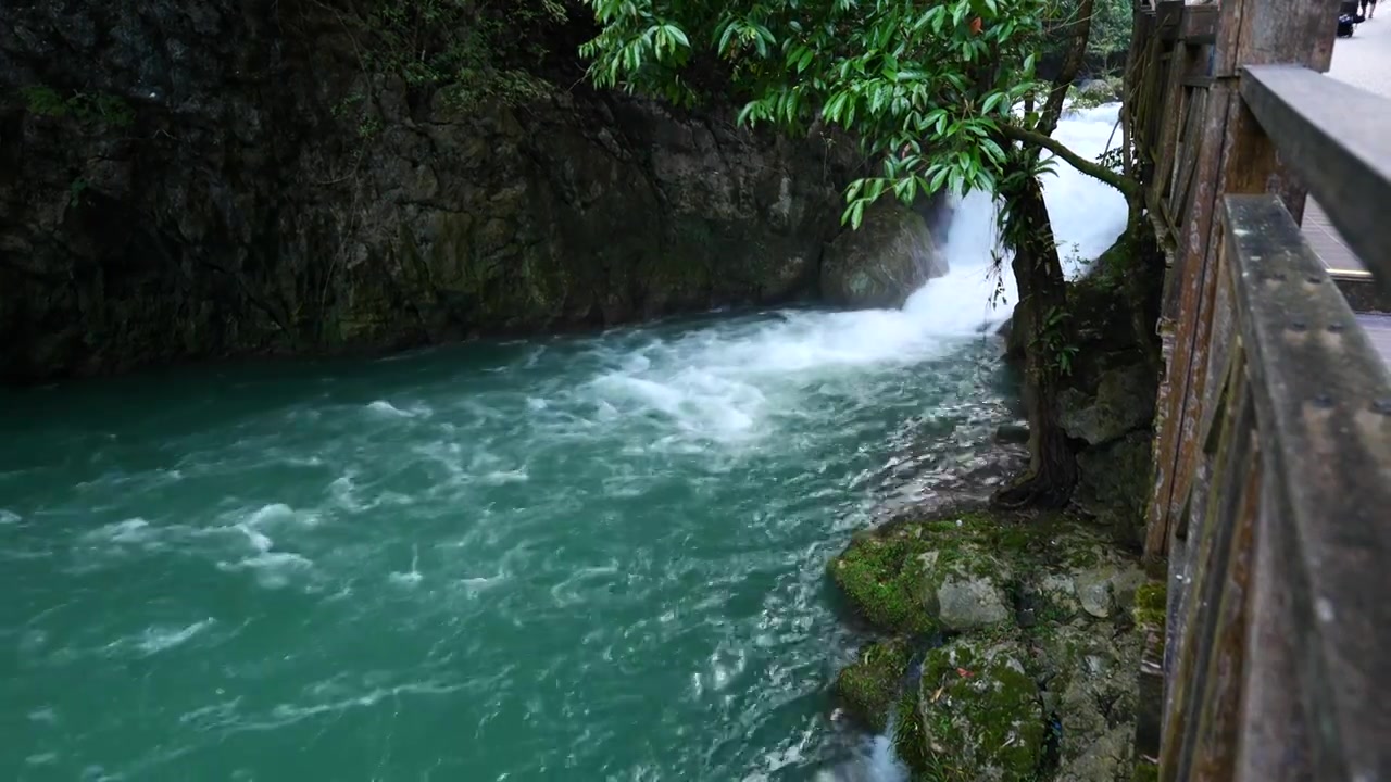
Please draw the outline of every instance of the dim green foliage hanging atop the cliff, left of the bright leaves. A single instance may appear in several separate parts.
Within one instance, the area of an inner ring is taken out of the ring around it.
[[[441,89],[460,109],[526,103],[551,92],[529,70],[545,57],[533,33],[565,18],[558,0],[373,0],[363,67]]]

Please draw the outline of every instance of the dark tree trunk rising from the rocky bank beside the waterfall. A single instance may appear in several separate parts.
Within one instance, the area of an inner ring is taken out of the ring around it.
[[[1025,177],[1007,193],[1006,235],[1014,249],[1020,303],[1014,327],[1025,330],[1024,402],[1029,417],[1029,466],[995,497],[1002,506],[1060,508],[1072,497],[1078,468],[1059,420],[1061,367],[1057,348],[1067,341],[1067,284],[1053,239],[1043,186]],[[1052,337],[1052,338],[1050,338]]]

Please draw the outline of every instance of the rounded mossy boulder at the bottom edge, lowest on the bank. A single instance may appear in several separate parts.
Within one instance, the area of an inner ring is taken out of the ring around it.
[[[1025,782],[1043,753],[1039,687],[1014,640],[963,637],[928,653],[899,711],[894,744],[943,781]]]

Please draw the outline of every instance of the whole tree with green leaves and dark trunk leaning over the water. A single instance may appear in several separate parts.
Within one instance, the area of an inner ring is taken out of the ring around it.
[[[885,195],[911,203],[947,188],[1002,199],[1000,239],[1020,289],[1014,327],[1025,346],[1031,459],[996,501],[1066,504],[1078,472],[1057,401],[1075,348],[1039,177],[1061,159],[1121,191],[1132,225],[1141,214],[1128,145],[1118,171],[1052,138],[1096,0],[586,1],[600,32],[581,56],[598,86],[679,104],[721,93],[741,103],[744,124],[787,134],[823,124],[858,139],[878,170],[846,191],[851,227]],[[1063,64],[1043,81],[1036,63],[1060,46]]]

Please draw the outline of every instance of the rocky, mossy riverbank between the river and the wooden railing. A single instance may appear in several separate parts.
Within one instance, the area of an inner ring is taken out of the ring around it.
[[[1078,358],[1060,420],[1081,469],[1072,504],[995,511],[979,476],[957,476],[954,491],[857,533],[828,566],[854,621],[872,630],[835,693],[912,774],[1131,778],[1139,654],[1153,623],[1135,607],[1149,589],[1139,541],[1156,356],[1134,317],[1143,302],[1129,301],[1146,292],[1121,282],[1139,252],[1123,237],[1070,284]],[[1027,437],[1014,426],[1000,434]],[[1017,445],[996,448],[1006,474],[1024,466]]]

